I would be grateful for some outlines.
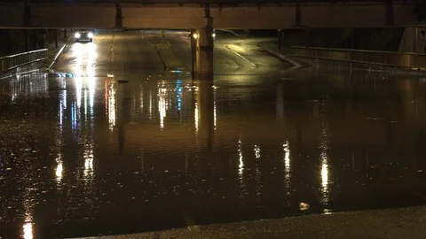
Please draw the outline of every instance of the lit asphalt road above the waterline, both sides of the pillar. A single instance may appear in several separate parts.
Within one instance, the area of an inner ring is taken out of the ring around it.
[[[188,32],[167,31],[177,57],[191,71],[191,45]],[[278,73],[289,64],[272,57],[258,44],[271,38],[248,38],[217,32],[214,50],[216,75],[259,75]],[[105,31],[96,35],[94,42],[71,42],[53,69],[76,75],[92,75],[137,79],[139,75],[161,75],[162,58],[154,47],[162,42],[161,31]]]

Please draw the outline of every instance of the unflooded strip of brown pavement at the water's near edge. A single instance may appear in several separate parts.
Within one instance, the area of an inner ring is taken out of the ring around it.
[[[177,228],[132,235],[87,239],[127,238],[425,238],[426,207],[340,212],[276,220],[242,221]]]

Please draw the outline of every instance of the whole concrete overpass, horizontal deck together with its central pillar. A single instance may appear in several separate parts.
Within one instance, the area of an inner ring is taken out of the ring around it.
[[[136,3],[135,3],[136,2]],[[214,28],[394,27],[415,20],[415,2],[1,0],[4,28],[192,28],[193,69],[213,72]]]

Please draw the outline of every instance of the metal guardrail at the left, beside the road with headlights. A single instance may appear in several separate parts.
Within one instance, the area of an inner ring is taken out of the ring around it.
[[[0,73],[6,73],[20,66],[25,66],[47,58],[47,49],[33,50],[0,58]]]

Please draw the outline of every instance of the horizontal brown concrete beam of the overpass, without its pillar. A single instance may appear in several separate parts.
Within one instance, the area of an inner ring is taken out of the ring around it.
[[[0,27],[201,28],[208,22],[201,4],[6,4]],[[393,12],[392,12],[393,8]],[[418,27],[414,4],[239,4],[209,6],[214,28]],[[29,14],[28,14],[29,13]]]

